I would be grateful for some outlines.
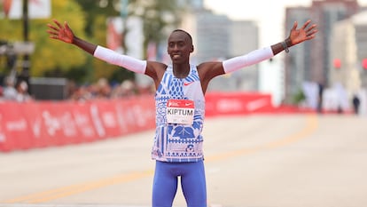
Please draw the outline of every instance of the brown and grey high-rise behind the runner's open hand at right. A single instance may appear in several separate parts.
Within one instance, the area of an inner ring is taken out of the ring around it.
[[[294,46],[293,52],[285,57],[285,99],[291,100],[302,82],[310,81],[329,86],[329,68],[332,67],[330,46],[332,26],[359,12],[356,0],[324,0],[312,2],[310,7],[289,7],[285,13],[285,31],[293,21],[313,20],[318,26],[314,40]]]

